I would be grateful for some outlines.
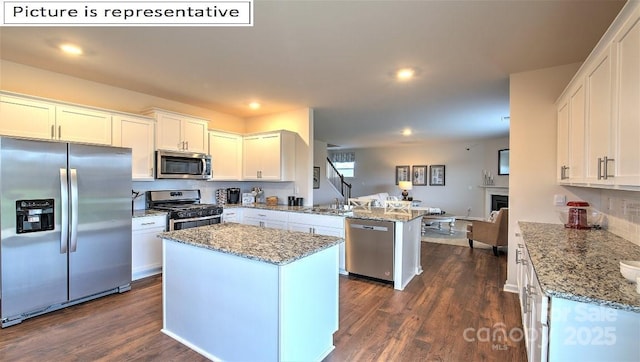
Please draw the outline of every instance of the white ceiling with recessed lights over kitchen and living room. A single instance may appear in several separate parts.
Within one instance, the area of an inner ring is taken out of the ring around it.
[[[3,27],[0,56],[241,117],[311,107],[341,147],[470,140],[508,134],[510,73],[584,60],[623,4],[255,0],[253,27]]]

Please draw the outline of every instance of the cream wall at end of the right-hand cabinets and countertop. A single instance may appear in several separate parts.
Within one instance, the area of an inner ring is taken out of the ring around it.
[[[515,250],[518,221],[559,224],[555,194],[599,204],[599,191],[556,184],[555,101],[580,66],[546,68],[510,77],[509,250]],[[516,285],[515,253],[509,253],[506,289]]]

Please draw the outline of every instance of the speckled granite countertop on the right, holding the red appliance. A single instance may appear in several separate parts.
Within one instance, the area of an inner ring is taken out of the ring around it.
[[[518,224],[547,296],[640,313],[635,283],[620,274],[620,260],[640,260],[640,246],[605,230]]]

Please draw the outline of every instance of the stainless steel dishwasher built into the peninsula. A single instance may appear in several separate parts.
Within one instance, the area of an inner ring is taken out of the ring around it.
[[[345,266],[349,273],[393,281],[393,221],[346,218]]]

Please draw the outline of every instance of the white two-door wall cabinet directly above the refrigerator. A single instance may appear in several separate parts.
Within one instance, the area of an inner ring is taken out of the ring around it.
[[[111,144],[111,113],[0,95],[0,133],[7,136]]]

